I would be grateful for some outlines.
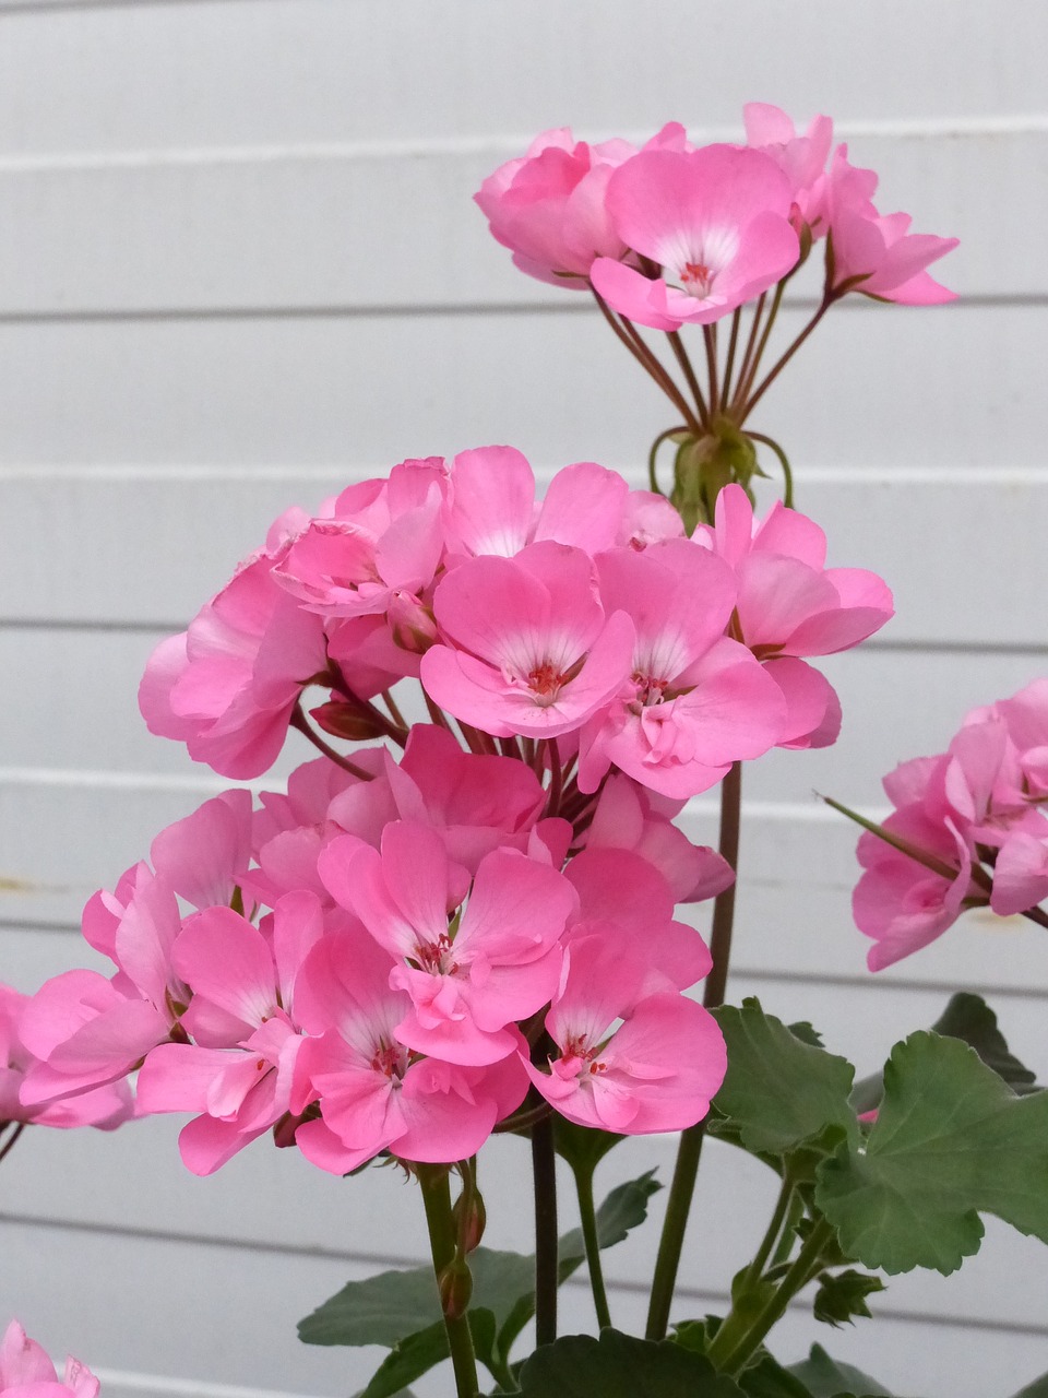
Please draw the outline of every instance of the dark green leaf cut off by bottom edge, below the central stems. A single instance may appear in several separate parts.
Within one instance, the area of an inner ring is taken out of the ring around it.
[[[741,1398],[734,1378],[675,1345],[615,1329],[565,1335],[544,1345],[520,1371],[523,1398]]]

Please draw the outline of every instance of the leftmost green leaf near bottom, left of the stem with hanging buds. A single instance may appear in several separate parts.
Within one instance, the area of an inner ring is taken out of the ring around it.
[[[363,1282],[349,1282],[312,1316],[299,1321],[305,1345],[395,1343],[443,1318],[432,1267],[379,1272]]]

